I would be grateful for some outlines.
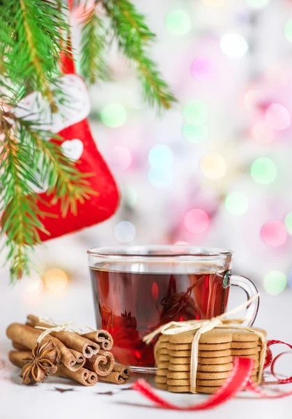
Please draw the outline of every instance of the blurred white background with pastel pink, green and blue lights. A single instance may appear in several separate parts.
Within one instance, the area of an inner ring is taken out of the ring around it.
[[[233,249],[234,272],[262,293],[289,292],[292,1],[135,3],[157,33],[153,57],[178,103],[157,116],[113,45],[114,81],[91,89],[91,126],[121,206],[105,223],[47,242],[43,281],[34,276],[26,293],[83,281],[89,247],[176,242]]]

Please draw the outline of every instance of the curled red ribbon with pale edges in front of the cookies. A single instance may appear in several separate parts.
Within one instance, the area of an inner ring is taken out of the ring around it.
[[[270,346],[275,344],[284,344],[286,346],[289,346],[289,348],[291,349],[292,345],[286,344],[285,342],[278,340],[268,341],[268,351],[265,368],[271,366],[271,373],[275,378],[277,378],[277,376],[275,375],[275,361],[279,359],[281,355],[284,355],[284,353],[286,352],[280,353],[273,360],[272,353],[270,351]],[[135,383],[132,384],[132,390],[139,391],[141,395],[144,395],[147,399],[154,402],[157,406],[164,407],[164,409],[171,409],[176,411],[199,411],[213,409],[214,407],[220,406],[220,404],[227,402],[229,399],[233,399],[233,397],[235,397],[238,394],[238,392],[240,392],[240,390],[250,390],[252,392],[255,392],[260,397],[268,399],[279,399],[282,397],[292,395],[292,391],[270,394],[259,388],[259,386],[253,383],[251,379],[253,368],[254,360],[252,360],[251,358],[233,358],[232,372],[229,375],[229,377],[226,378],[226,381],[224,381],[222,387],[220,387],[220,389],[217,390],[215,394],[211,395],[203,402],[198,404],[192,404],[191,406],[178,406],[176,404],[168,402],[166,399],[163,399],[162,397],[157,395],[157,392],[155,392],[151,385],[143,379],[135,381]],[[277,378],[277,381],[275,381],[275,384],[283,383],[292,383],[292,376],[284,379]]]

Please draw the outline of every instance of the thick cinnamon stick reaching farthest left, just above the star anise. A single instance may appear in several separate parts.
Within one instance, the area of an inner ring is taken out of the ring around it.
[[[36,341],[41,334],[41,330],[31,328],[28,325],[22,325],[20,323],[13,323],[8,326],[6,330],[6,335],[9,339],[13,341],[13,343],[21,348],[29,348],[33,349],[36,346]],[[82,362],[78,362],[66,346],[51,335],[47,335],[43,337],[42,342],[52,341],[61,353],[61,362],[65,365],[70,371],[77,371],[79,368],[82,367]]]

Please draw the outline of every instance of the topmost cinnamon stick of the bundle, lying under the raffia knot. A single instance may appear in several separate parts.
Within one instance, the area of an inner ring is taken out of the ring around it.
[[[52,328],[52,325],[41,322],[37,316],[30,314],[27,318],[27,324],[32,325],[33,327],[40,326],[43,328]],[[89,339],[86,339],[86,337],[82,337],[74,332],[66,332],[62,330],[61,332],[51,332],[50,335],[63,342],[67,348],[74,349],[75,351],[82,353],[85,358],[91,358],[100,350],[100,346],[94,341],[90,341]]]

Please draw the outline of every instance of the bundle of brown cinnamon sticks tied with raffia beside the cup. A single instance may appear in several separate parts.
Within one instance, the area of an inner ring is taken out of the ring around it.
[[[34,362],[31,365],[34,376],[37,376],[38,367],[41,369],[44,365],[43,368],[48,369],[47,365],[52,359],[47,360],[46,357],[48,358],[48,353],[52,354],[49,347],[54,347],[58,359],[52,374],[56,376],[71,378],[83,385],[95,385],[98,381],[115,384],[129,381],[130,369],[115,362],[114,355],[110,352],[114,342],[106,330],[95,330],[84,335],[67,330],[49,332],[41,339],[42,359],[40,354],[39,358],[36,357],[36,346],[38,345],[40,351],[37,341],[43,330],[36,327],[52,328],[52,325],[43,323],[38,316],[29,315],[25,325],[13,323],[8,326],[6,335],[15,348],[15,351],[9,353],[9,360],[13,365],[23,368],[27,362]],[[35,379],[34,382],[41,380]]]

